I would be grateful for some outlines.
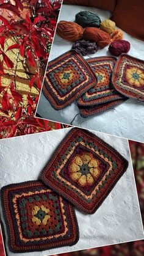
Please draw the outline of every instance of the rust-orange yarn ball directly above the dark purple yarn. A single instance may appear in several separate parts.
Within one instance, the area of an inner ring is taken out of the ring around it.
[[[83,37],[85,40],[96,42],[101,49],[110,43],[110,35],[97,27],[86,27],[84,29]]]

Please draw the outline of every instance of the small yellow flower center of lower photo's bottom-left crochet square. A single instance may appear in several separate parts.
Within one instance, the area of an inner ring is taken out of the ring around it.
[[[48,219],[50,218],[49,216],[49,209],[41,205],[41,207],[35,206],[34,210],[32,211],[32,215],[34,216],[32,218],[33,222],[36,222],[37,225],[40,225],[43,223],[43,225],[47,224]]]

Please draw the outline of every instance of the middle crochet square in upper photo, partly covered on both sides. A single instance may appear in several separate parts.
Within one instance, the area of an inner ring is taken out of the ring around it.
[[[111,84],[115,57],[95,57],[87,60],[97,78],[97,84],[77,100],[78,106],[95,106],[123,98]]]

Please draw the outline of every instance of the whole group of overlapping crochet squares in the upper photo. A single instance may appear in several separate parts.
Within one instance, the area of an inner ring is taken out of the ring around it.
[[[127,98],[144,100],[144,62],[121,54],[85,60],[68,51],[49,62],[43,92],[59,110],[77,100],[82,117],[113,108]]]

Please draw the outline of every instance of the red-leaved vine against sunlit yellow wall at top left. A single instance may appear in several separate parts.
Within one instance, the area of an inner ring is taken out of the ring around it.
[[[0,138],[51,129],[34,115],[61,2],[0,0]],[[17,82],[29,90],[18,90]]]

